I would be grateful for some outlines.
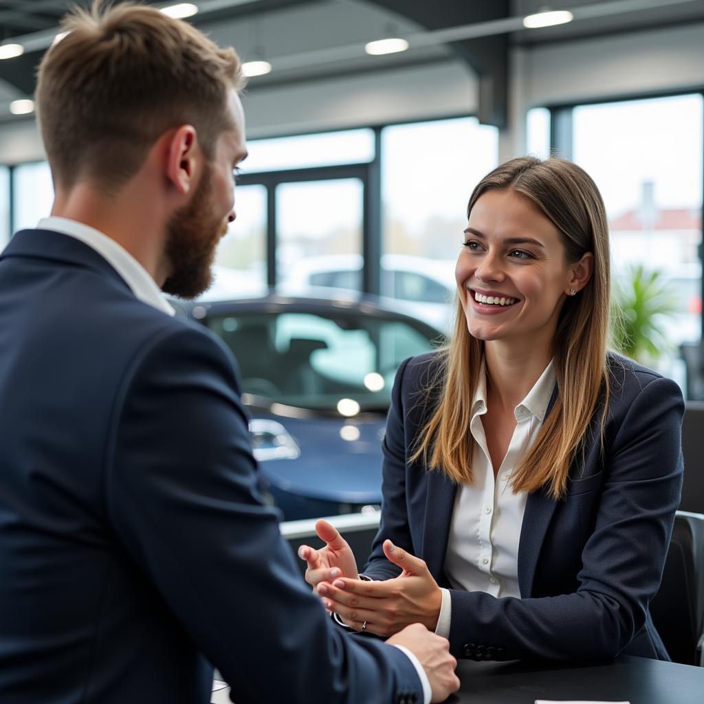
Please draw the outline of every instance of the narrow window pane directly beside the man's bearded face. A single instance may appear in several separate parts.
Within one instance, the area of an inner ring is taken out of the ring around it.
[[[266,287],[267,192],[263,186],[237,186],[237,219],[218,245],[215,282],[208,298],[262,294]]]

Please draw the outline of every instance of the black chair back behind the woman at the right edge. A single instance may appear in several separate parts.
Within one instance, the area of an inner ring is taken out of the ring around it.
[[[650,615],[673,662],[704,667],[704,514],[677,511]]]

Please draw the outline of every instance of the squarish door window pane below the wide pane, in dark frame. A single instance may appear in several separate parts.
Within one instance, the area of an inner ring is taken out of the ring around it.
[[[276,265],[282,289],[360,289],[363,190],[356,178],[277,186]]]

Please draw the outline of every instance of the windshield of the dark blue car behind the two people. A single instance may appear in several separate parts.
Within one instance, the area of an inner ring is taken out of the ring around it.
[[[237,358],[248,401],[342,415],[388,408],[398,365],[436,337],[421,322],[348,310],[211,311],[203,322]]]

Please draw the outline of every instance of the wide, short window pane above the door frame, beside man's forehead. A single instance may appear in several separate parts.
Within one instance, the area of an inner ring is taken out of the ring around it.
[[[247,173],[367,163],[374,158],[374,132],[345,130],[253,139],[247,148],[249,156],[242,163]]]

